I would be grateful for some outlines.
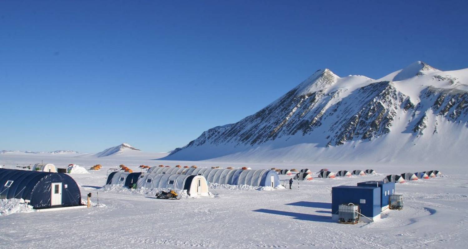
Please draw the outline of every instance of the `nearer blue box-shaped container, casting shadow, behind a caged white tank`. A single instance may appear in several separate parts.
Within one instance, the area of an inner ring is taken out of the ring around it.
[[[341,204],[359,205],[362,217],[359,221],[371,222],[380,219],[380,188],[363,186],[336,186],[331,188],[331,217],[338,220],[338,207]],[[370,219],[370,220],[369,220]]]

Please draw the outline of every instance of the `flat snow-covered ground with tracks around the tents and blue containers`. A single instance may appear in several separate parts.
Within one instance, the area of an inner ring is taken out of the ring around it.
[[[468,175],[450,165],[308,165],[318,171],[373,168],[378,175],[294,182],[293,189],[231,188],[211,185],[211,197],[160,200],[139,191],[101,189],[106,171],[125,164],[305,168],[301,165],[232,164],[148,160],[147,157],[0,155],[0,165],[16,168],[44,160],[57,167],[79,164],[100,171],[73,174],[81,195],[91,192],[100,206],[56,212],[0,215],[0,248],[466,248]],[[332,221],[331,187],[380,180],[386,174],[440,170],[444,177],[397,184],[402,211],[380,221],[344,225]],[[282,177],[282,179],[288,179]],[[9,204],[10,205],[10,204]],[[11,206],[11,205],[10,205]],[[12,210],[10,208],[10,210]],[[13,211],[15,211],[13,209]]]

